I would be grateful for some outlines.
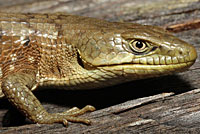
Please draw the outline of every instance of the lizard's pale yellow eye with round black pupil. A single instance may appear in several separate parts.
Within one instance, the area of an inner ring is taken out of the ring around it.
[[[133,50],[136,53],[143,53],[148,50],[148,45],[146,44],[146,42],[140,40],[130,41],[129,46],[131,50]]]

